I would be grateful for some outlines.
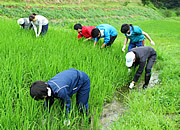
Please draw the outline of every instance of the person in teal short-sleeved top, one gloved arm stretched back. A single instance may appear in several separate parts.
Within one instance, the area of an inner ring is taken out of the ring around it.
[[[123,52],[125,52],[128,39],[130,39],[128,52],[136,46],[144,46],[145,37],[151,42],[151,45],[155,45],[154,41],[150,38],[150,36],[146,32],[142,31],[142,29],[138,26],[134,26],[132,24],[123,24],[121,26],[121,32],[124,33],[126,36],[124,46],[122,48]]]

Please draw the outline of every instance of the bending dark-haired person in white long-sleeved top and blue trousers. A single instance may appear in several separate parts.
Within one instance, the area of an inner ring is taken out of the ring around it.
[[[49,24],[49,21],[47,20],[47,18],[45,18],[42,15],[37,15],[33,13],[29,16],[29,21],[33,25],[34,31],[36,33],[36,37],[39,37],[40,34],[44,36],[47,33],[48,24]],[[39,26],[38,33],[37,33],[37,26]]]

